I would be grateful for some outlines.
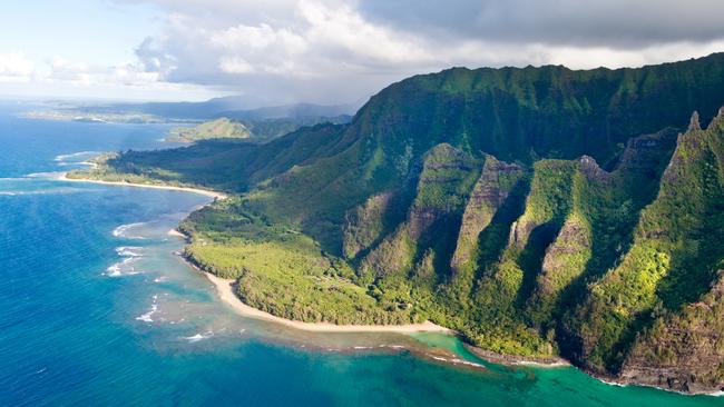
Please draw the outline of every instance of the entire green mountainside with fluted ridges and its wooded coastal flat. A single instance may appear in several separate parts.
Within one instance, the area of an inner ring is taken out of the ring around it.
[[[127,152],[76,176],[235,193],[183,222],[187,256],[272,314],[431,319],[487,350],[713,391],[722,106],[724,54],[454,68],[385,88],[346,125]],[[692,355],[706,363],[679,363]]]

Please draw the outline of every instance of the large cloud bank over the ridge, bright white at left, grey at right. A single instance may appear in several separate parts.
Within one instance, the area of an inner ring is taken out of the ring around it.
[[[571,0],[547,8],[531,0],[512,0],[520,8],[496,0],[147,1],[166,8],[168,19],[138,49],[146,70],[270,102],[359,101],[392,81],[451,66],[617,68],[724,50],[716,39],[724,30],[710,18],[701,29],[671,21],[676,32],[665,36],[652,26],[653,17],[671,20],[666,9],[697,13],[673,0],[658,8],[601,0],[586,10]],[[566,30],[580,39],[566,40]]]

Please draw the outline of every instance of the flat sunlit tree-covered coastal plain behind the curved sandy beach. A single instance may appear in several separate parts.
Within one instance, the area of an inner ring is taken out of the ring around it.
[[[354,271],[326,256],[292,225],[270,225],[228,199],[194,212],[180,228],[193,236],[187,258],[238,280],[239,297],[267,312],[310,322],[405,324],[424,318],[407,302],[378,300]],[[234,214],[231,216],[229,214]]]

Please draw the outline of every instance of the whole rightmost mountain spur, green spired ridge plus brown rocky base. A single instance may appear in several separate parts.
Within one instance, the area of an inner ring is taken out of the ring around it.
[[[721,387],[721,281],[704,295],[724,258],[723,135],[715,119],[678,137],[630,247],[568,320],[578,344],[571,357],[587,368],[679,390]]]

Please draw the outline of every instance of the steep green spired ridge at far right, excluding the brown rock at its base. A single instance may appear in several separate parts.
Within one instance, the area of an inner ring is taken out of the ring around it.
[[[637,332],[652,324],[652,311],[675,311],[710,287],[724,256],[723,121],[720,116],[701,130],[693,117],[632,247],[577,308],[575,355],[589,368],[617,374]]]

